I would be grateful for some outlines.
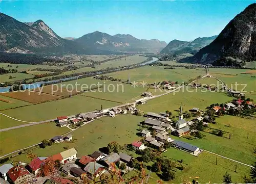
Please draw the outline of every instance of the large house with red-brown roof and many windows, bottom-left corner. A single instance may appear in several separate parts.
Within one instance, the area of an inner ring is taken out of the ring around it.
[[[8,172],[7,176],[9,181],[14,184],[22,184],[22,183],[29,183],[32,182],[34,176],[29,173],[27,169],[23,166],[14,166]]]

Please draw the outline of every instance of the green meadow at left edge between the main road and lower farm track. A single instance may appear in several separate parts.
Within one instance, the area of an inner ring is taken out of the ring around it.
[[[1,133],[1,155],[37,144],[44,139],[69,132],[67,127],[58,127],[56,123],[44,123],[18,128]],[[11,146],[10,146],[11,145]]]

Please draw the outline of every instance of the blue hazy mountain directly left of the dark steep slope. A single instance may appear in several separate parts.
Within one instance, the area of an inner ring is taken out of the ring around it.
[[[197,38],[194,41],[180,41],[180,40],[173,40],[170,41],[169,44],[163,48],[160,52],[160,54],[184,54],[184,53],[191,53],[195,54],[199,49],[203,48],[204,46],[208,45],[217,36],[211,36],[211,37],[203,37],[203,38]]]

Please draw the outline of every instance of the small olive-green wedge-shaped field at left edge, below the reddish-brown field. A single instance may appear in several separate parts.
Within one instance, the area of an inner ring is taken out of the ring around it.
[[[0,94],[3,94],[3,93],[0,93]],[[9,102],[7,102],[7,101],[9,101]],[[17,100],[14,98],[9,98],[6,96],[0,97],[0,110],[15,108],[15,107],[19,107],[19,106],[26,106],[29,104],[31,104],[31,103],[22,101],[22,100]]]

